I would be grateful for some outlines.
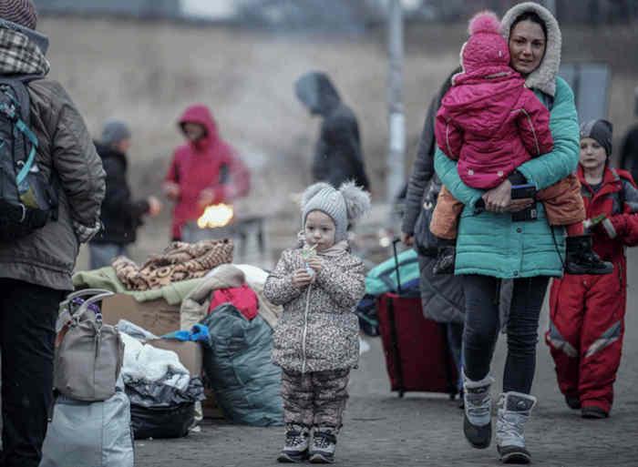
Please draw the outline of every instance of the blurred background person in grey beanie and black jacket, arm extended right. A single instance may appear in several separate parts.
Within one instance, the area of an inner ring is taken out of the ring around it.
[[[127,246],[135,242],[142,218],[156,216],[162,208],[158,198],[153,196],[146,199],[131,197],[127,181],[130,131],[125,123],[108,121],[96,147],[107,173],[107,194],[100,215],[103,228],[88,244],[90,269],[110,266],[112,259],[127,255]]]

